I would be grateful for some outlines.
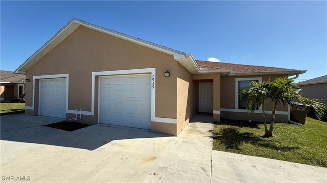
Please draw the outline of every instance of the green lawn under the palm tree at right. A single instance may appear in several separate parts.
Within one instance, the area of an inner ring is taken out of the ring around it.
[[[275,123],[271,138],[264,133],[263,123],[222,120],[214,125],[213,149],[327,167],[327,122],[307,117],[303,126]]]

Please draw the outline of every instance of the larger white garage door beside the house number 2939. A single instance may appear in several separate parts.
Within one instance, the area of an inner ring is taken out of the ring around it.
[[[150,75],[100,77],[99,122],[150,129]]]

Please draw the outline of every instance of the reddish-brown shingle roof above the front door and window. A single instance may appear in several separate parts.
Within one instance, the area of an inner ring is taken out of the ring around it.
[[[209,68],[209,70],[231,69],[236,73],[300,71],[295,69],[285,69],[285,68],[277,68],[277,67],[230,64],[230,63],[223,63],[223,62],[209,62],[209,61],[200,61],[200,60],[197,60],[196,63],[199,65],[200,68]]]

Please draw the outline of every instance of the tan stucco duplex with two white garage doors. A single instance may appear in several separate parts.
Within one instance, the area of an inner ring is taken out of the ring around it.
[[[196,113],[249,115],[239,91],[305,71],[196,61],[191,54],[73,19],[15,73],[26,74],[26,114],[75,118],[178,135]],[[266,110],[271,110],[267,101]],[[271,111],[267,111],[267,113]],[[269,117],[269,116],[268,116]],[[78,115],[79,118],[79,115]],[[279,105],[277,121],[287,122]]]

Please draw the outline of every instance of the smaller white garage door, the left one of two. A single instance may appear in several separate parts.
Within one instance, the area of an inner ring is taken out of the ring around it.
[[[66,78],[40,79],[40,115],[66,118]]]

